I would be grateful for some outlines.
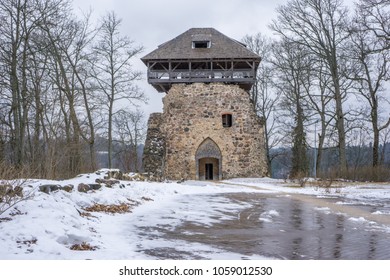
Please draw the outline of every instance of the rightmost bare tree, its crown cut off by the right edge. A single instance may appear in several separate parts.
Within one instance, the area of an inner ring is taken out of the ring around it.
[[[368,8],[369,4],[373,6]],[[390,7],[390,4],[388,5]],[[370,17],[374,17],[375,12],[381,12],[377,10],[379,6],[378,1],[363,1],[351,26],[352,36],[349,48],[353,64],[350,78],[356,82],[357,90],[366,99],[370,110],[369,120],[373,131],[372,164],[374,167],[379,165],[379,134],[390,125],[390,118],[380,124],[380,104],[382,104],[382,108],[389,104],[384,96],[384,84],[390,79],[390,49],[384,45],[382,40],[386,33],[378,30],[379,27],[375,27],[375,24],[372,23],[374,19],[370,19]],[[369,12],[370,14],[368,14]],[[379,15],[375,16],[378,21],[381,18]],[[390,18],[388,19],[390,20]],[[388,22],[382,24],[380,25],[383,28],[386,24],[389,25]]]

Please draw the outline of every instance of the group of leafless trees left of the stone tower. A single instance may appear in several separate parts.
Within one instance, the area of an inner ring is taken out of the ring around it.
[[[135,159],[117,161],[137,169],[145,120],[135,108],[146,100],[131,63],[142,46],[116,14],[92,24],[68,0],[1,0],[0,23],[0,166],[74,176],[97,168],[104,137],[108,167],[123,149]]]

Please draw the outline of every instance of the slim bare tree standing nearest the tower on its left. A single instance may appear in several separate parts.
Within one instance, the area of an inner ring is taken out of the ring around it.
[[[144,93],[135,84],[141,78],[141,72],[135,71],[131,65],[131,60],[143,48],[134,46],[129,38],[121,36],[120,24],[121,20],[114,12],[103,17],[93,60],[93,77],[102,93],[102,105],[107,111],[109,168],[112,167],[114,104],[120,100],[127,100],[131,104],[145,101]]]

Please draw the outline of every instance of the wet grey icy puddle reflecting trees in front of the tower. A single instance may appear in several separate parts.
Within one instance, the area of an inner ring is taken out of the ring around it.
[[[135,215],[134,245],[153,259],[390,259],[386,211],[306,195],[180,195]]]

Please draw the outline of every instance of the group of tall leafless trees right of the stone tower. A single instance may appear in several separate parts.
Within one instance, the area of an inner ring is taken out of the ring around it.
[[[270,171],[285,156],[274,149],[281,146],[291,148],[289,177],[347,177],[361,166],[348,153],[365,146],[364,166],[386,170],[390,1],[348,8],[341,0],[290,0],[277,14],[269,26],[275,37],[244,38],[262,57],[251,94],[266,123]]]

